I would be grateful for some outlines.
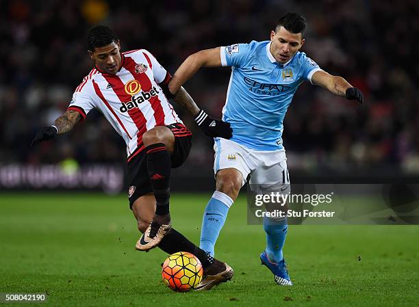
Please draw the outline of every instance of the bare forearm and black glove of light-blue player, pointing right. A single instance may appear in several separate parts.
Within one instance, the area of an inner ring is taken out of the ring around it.
[[[364,94],[362,94],[359,89],[354,88],[342,77],[330,75],[324,70],[314,72],[312,83],[320,85],[322,88],[326,88],[333,94],[345,96],[348,100],[356,100],[359,103],[364,102]]]

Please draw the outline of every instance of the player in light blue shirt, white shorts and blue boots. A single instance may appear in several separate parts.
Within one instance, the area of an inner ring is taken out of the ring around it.
[[[231,66],[223,120],[233,129],[231,139],[216,137],[216,191],[208,202],[201,230],[201,248],[214,255],[214,245],[227,212],[250,174],[250,183],[290,185],[282,144],[283,118],[296,89],[304,81],[320,85],[349,100],[363,102],[363,94],[345,79],[329,75],[316,62],[300,52],[305,39],[303,16],[282,16],[270,40],[232,44],[190,55],[169,83],[171,93],[201,67]],[[201,124],[207,115],[201,111],[195,120]],[[282,248],[288,230],[286,217],[264,217],[266,250],[260,258],[275,276],[275,282],[292,285]]]

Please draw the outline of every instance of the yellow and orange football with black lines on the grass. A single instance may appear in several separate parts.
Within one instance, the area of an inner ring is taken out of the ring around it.
[[[172,254],[163,263],[163,282],[173,291],[190,291],[201,282],[202,277],[201,262],[189,252]]]

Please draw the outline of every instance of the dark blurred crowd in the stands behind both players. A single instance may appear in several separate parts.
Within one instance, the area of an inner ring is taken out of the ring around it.
[[[86,34],[110,25],[123,51],[148,49],[170,72],[191,53],[268,40],[285,12],[307,18],[304,51],[365,95],[364,105],[305,83],[285,116],[291,170],[314,174],[419,173],[419,2],[415,0],[0,1],[0,163],[123,163],[125,144],[92,111],[75,129],[30,148],[40,126],[65,111],[90,72]],[[196,103],[220,117],[229,68],[186,83]],[[194,133],[184,171],[210,168],[212,139],[177,107]]]

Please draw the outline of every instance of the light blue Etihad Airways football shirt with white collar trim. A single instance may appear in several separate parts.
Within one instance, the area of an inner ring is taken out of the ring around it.
[[[231,140],[255,150],[280,150],[283,118],[301,83],[321,70],[303,52],[279,64],[270,41],[223,46],[221,64],[231,66],[223,120],[231,124]]]

